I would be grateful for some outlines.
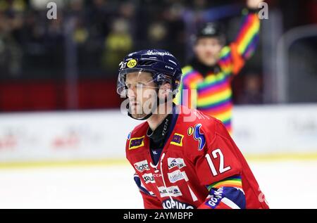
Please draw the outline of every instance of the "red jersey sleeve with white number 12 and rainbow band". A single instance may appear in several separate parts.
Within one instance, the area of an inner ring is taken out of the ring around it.
[[[219,120],[212,126],[201,126],[200,136],[206,145],[196,151],[195,169],[201,185],[209,195],[198,208],[237,209],[245,208],[246,199],[242,189],[242,164],[235,155],[235,145],[230,134]],[[209,131],[209,129],[213,129]]]

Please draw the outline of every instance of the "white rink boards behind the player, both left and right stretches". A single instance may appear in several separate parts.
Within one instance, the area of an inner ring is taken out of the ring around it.
[[[1,114],[0,163],[124,158],[139,123],[119,110]],[[247,154],[317,152],[317,105],[235,106],[232,125]]]

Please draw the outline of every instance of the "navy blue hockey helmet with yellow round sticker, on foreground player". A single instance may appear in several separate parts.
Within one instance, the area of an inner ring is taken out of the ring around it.
[[[158,88],[161,84],[169,82],[174,92],[178,89],[182,78],[178,60],[170,52],[162,49],[147,49],[130,53],[119,64],[118,71],[117,93],[121,96],[125,94],[125,77],[130,72],[150,72]]]

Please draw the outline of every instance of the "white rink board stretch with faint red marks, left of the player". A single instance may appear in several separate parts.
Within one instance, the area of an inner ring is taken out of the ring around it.
[[[118,110],[0,115],[0,162],[124,158],[138,122]],[[1,143],[2,142],[2,143]]]

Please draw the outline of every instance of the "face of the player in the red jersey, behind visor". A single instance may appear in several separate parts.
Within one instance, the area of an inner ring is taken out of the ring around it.
[[[151,73],[130,72],[125,77],[125,85],[128,88],[129,106],[132,117],[141,119],[147,116],[154,100],[156,100],[156,96],[154,96],[154,94],[156,94],[156,84],[153,82]],[[153,96],[149,96],[150,94]]]

